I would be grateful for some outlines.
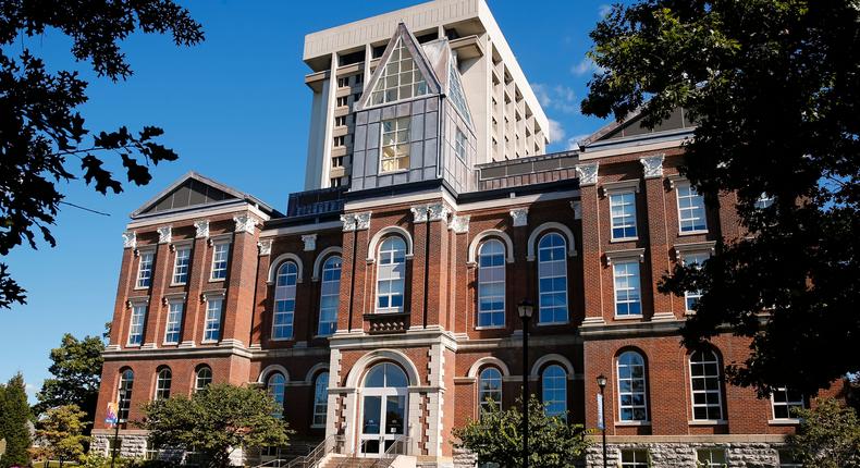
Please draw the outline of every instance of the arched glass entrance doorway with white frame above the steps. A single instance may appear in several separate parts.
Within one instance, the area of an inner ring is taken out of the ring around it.
[[[378,364],[365,375],[358,441],[361,455],[381,456],[406,438],[408,382],[403,369],[392,362]]]

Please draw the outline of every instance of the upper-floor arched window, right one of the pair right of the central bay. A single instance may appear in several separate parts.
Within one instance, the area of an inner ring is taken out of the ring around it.
[[[567,323],[567,245],[558,233],[538,243],[538,287],[540,323]]]

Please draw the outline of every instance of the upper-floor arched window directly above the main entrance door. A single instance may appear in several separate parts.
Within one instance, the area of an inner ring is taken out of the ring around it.
[[[403,311],[403,291],[406,283],[406,243],[398,236],[382,241],[377,267],[377,312]]]

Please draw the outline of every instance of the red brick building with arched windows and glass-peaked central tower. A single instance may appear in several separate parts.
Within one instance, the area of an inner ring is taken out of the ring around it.
[[[293,194],[282,213],[189,173],[132,213],[94,446],[107,449],[101,421],[118,394],[133,421],[153,398],[258,383],[283,402],[296,452],[340,435],[343,455],[404,441],[420,466],[470,466],[452,429],[482,405],[512,405],[524,375],[548,411],[594,428],[602,374],[612,466],[790,466],[778,449],[797,423],[789,408],[807,399],[727,385],[723,365],[748,341],[688,352],[679,329],[696,293],[655,287],[744,235],[732,194],[705,202],[678,174],[684,113],[653,131],[631,116],[579,150],[476,163],[480,130],[452,102],[446,44],[403,25],[389,41],[367,88],[393,54],[409,54],[429,86],[357,102],[360,184]],[[122,452],[143,455],[145,434],[121,427]],[[595,446],[588,464],[601,463]]]

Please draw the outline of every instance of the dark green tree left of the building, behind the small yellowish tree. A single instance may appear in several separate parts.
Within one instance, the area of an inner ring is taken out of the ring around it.
[[[53,377],[45,379],[34,410],[40,414],[58,406],[76,405],[86,411],[86,421],[91,422],[96,416],[103,350],[105,343],[99,336],[78,341],[70,333],[64,334],[60,347],[51,349],[53,364],[48,370]]]

